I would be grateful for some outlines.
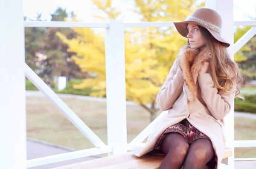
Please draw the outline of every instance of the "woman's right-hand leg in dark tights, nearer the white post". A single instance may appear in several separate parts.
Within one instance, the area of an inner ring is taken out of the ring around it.
[[[214,155],[212,142],[209,139],[200,138],[190,145],[183,169],[204,169]]]

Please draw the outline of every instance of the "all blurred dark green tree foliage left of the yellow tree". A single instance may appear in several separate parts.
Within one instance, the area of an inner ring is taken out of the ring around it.
[[[73,17],[73,12],[58,7],[51,15],[51,21],[64,21]],[[24,20],[31,20],[24,17]],[[41,20],[38,14],[36,21]],[[68,46],[55,33],[61,32],[68,39],[76,37],[71,28],[25,28],[26,64],[39,76],[71,76],[74,78],[87,77],[81,73],[78,65],[71,59],[73,53],[67,52]]]

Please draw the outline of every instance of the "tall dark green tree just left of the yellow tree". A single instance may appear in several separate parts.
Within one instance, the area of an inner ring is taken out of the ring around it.
[[[68,14],[66,9],[58,7],[51,14],[51,21],[64,21],[69,15],[73,17],[73,12]],[[55,35],[56,32],[65,34],[69,39],[76,37],[76,33],[71,28],[47,28],[47,34],[44,36],[47,59],[43,62],[45,67],[42,74],[50,73],[54,76],[68,76],[73,73],[73,75],[76,75],[76,71],[80,72],[80,69],[70,59],[73,53],[67,52],[68,46]]]

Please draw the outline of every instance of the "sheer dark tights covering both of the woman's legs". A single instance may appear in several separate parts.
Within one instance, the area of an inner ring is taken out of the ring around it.
[[[201,138],[190,146],[179,133],[169,133],[161,145],[166,155],[158,169],[203,169],[213,158],[214,150],[210,140]]]

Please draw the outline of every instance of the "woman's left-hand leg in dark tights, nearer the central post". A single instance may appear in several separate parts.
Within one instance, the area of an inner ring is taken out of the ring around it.
[[[161,144],[161,150],[166,155],[158,169],[180,169],[184,163],[189,144],[179,133],[166,135]]]

